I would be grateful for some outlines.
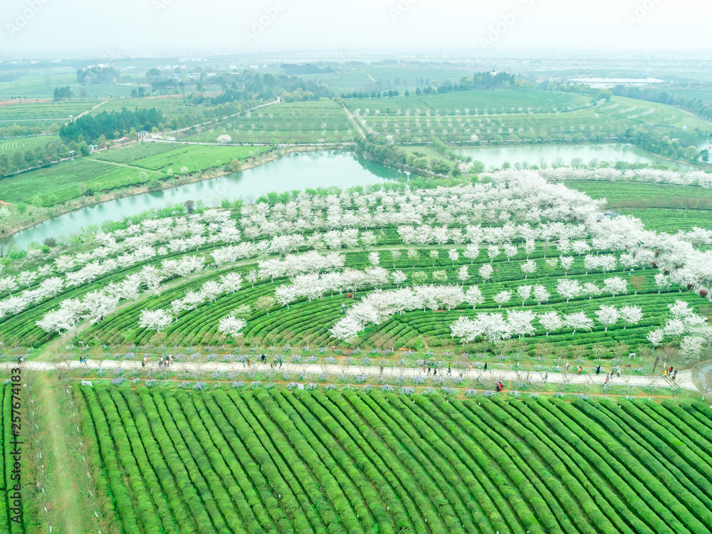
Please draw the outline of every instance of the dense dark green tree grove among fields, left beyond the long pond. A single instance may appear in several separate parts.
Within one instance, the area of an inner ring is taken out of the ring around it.
[[[164,117],[156,108],[135,108],[130,111],[121,108],[120,112],[100,112],[98,115],[84,115],[73,122],[68,122],[59,129],[59,136],[63,142],[78,141],[80,139],[92,144],[103,135],[106,139],[115,137],[115,132],[121,134],[131,128],[151,130],[162,125]]]

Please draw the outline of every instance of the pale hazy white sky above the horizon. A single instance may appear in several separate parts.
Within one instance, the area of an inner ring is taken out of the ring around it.
[[[0,54],[712,51],[708,0],[0,0]]]

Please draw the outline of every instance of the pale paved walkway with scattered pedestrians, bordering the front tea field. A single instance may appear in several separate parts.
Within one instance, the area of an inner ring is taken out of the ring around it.
[[[11,367],[16,367],[17,364],[4,363],[0,365],[0,368],[9,369]],[[68,360],[63,363],[52,363],[52,362],[23,362],[22,367],[28,370],[37,371],[53,371],[59,368],[75,369],[78,367],[89,367],[91,369],[141,369],[141,362],[135,360],[87,360],[86,365],[80,364],[78,360]],[[150,362],[146,369],[158,369],[157,362]],[[173,371],[193,371],[193,372],[244,372],[247,370],[258,370],[264,371],[269,370],[269,364],[263,363],[253,363],[251,367],[247,367],[242,363],[226,363],[226,362],[175,362],[173,364]],[[572,370],[574,367],[572,367]],[[375,376],[380,375],[381,370],[377,365],[333,365],[333,364],[293,364],[293,363],[283,363],[281,368],[276,369],[278,372],[290,372],[290,373],[306,373],[308,375],[320,375],[325,372],[330,375],[340,375],[342,372],[346,375],[367,375]],[[457,377],[460,374],[460,370],[453,367],[452,377]],[[446,376],[447,368],[441,367],[438,369],[440,376]],[[382,375],[384,377],[416,377],[424,376],[422,369],[417,369],[413,367],[383,367]],[[548,375],[548,376],[547,376]],[[575,373],[566,372],[517,372],[513,370],[487,370],[483,371],[481,369],[473,369],[472,371],[465,370],[463,376],[473,379],[481,377],[482,379],[492,379],[492,380],[502,380],[503,382],[513,382],[517,379],[530,379],[532,382],[541,382],[546,377],[546,381],[551,384],[560,384],[561,382],[567,382],[569,384],[585,384],[585,385],[603,385],[605,383],[606,375],[602,372],[600,375],[577,375]],[[640,376],[640,375],[622,375],[620,378],[612,377],[610,384],[612,385],[623,385],[628,383],[635,387],[649,386],[651,383],[658,387],[671,387],[673,382],[668,379],[664,379],[662,376],[658,375],[656,377],[650,376]],[[677,375],[677,379],[674,384],[681,387],[682,389],[691,389],[692,391],[698,391],[697,387],[692,382],[692,375],[690,371],[682,371]],[[507,385],[507,384],[506,384]],[[509,387],[507,389],[510,389]]]

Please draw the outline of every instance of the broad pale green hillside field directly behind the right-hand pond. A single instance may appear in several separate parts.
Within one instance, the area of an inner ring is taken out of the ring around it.
[[[543,91],[458,91],[441,95],[347,100],[367,127],[402,142],[583,142],[623,135],[631,125],[712,132],[712,125],[668,105]],[[674,132],[671,133],[674,135]]]

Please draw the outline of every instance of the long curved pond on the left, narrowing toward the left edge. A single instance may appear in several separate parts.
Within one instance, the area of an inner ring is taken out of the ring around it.
[[[211,206],[214,201],[224,197],[251,201],[271,191],[330,186],[345,188],[385,182],[403,175],[397,169],[357,158],[350,152],[297,152],[243,172],[70,211],[20,231],[4,242],[26,247],[32,241],[41,242],[49,236],[75,234],[85,226],[123,219],[146,209],[165,206],[168,202],[176,204],[187,200],[202,200]]]

